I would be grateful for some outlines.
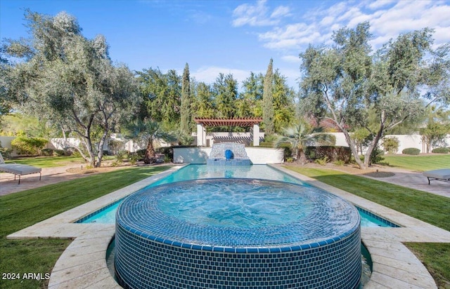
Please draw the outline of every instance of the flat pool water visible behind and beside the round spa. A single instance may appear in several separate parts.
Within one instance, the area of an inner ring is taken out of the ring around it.
[[[236,178],[251,178],[251,179],[264,179],[264,180],[278,180],[283,182],[291,182],[294,184],[302,184],[304,187],[311,187],[309,184],[298,180],[295,177],[291,177],[280,170],[276,170],[275,168],[271,168],[265,165],[253,165],[253,166],[236,166],[236,167],[223,167],[223,166],[206,166],[206,165],[188,165],[184,168],[177,170],[176,172],[168,175],[167,177],[159,180],[158,182],[154,182],[150,184],[148,187],[154,187],[159,184],[168,184],[172,182],[181,182],[185,180],[195,180],[195,179],[207,179],[213,177],[236,177]],[[144,188],[145,189],[145,188]],[[179,196],[183,198],[183,196]],[[208,195],[207,197],[212,197],[212,195]],[[274,196],[276,199],[276,196]],[[240,200],[243,201],[243,200]],[[255,200],[253,200],[255,201]],[[301,202],[300,199],[291,200],[297,203]],[[102,224],[115,224],[115,213],[117,211],[118,206],[122,200],[117,203],[113,203],[110,206],[107,206],[94,214],[88,215],[83,219],[77,221],[82,223],[102,223]],[[256,202],[256,201],[255,201]],[[278,199],[276,199],[278,202]],[[264,206],[272,206],[272,210],[276,213],[276,202],[269,202]],[[212,203],[213,204],[213,203]],[[257,208],[257,203],[254,204],[254,208]],[[292,207],[295,209],[295,205]],[[358,208],[359,214],[361,215],[361,227],[397,227],[395,224],[387,220],[383,220],[382,218],[371,214],[361,208]],[[219,210],[217,211],[219,212]],[[217,213],[216,212],[216,213]],[[229,213],[229,212],[228,212]],[[289,217],[293,212],[284,213],[285,217]]]

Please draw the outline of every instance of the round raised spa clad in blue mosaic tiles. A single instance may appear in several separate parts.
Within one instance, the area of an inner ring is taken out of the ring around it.
[[[117,210],[124,288],[356,288],[359,213],[310,186],[207,179],[149,187]]]

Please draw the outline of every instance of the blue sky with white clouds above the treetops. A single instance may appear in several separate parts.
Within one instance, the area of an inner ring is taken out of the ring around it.
[[[0,0],[0,38],[27,37],[25,8],[74,15],[89,39],[103,34],[110,57],[132,70],[159,67],[213,83],[219,72],[242,83],[274,67],[297,90],[300,58],[333,31],[369,21],[374,48],[400,33],[431,27],[435,45],[450,42],[450,1],[158,1]]]

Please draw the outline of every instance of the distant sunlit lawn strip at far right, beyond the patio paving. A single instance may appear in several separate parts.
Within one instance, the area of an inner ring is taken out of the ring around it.
[[[450,168],[450,154],[432,154],[408,156],[405,154],[386,154],[383,156],[383,163],[389,163],[389,166],[406,168],[407,170],[437,170],[438,168]]]

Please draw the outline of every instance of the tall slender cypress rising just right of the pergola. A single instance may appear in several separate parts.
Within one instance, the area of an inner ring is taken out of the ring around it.
[[[267,67],[266,76],[264,77],[264,92],[262,95],[262,122],[264,123],[264,133],[273,135],[275,133],[274,126],[274,95],[272,91],[272,83],[274,81],[273,59],[270,59]]]

